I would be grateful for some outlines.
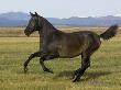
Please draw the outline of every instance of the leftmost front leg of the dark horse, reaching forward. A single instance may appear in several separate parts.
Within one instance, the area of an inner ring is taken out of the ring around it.
[[[30,60],[31,60],[32,58],[34,58],[34,57],[40,57],[40,52],[35,52],[34,54],[31,54],[31,55],[29,56],[29,59],[25,60],[25,63],[24,63],[24,72],[28,71],[28,65],[29,65]]]

